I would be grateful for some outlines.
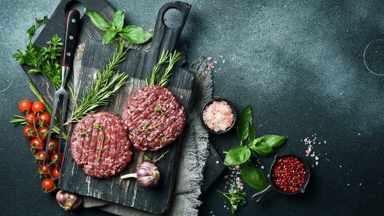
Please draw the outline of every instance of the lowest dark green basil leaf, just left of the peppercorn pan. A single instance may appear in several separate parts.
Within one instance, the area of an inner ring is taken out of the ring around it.
[[[256,169],[251,162],[245,162],[241,167],[241,178],[256,190],[264,190],[267,188],[267,180],[264,173],[260,169]]]

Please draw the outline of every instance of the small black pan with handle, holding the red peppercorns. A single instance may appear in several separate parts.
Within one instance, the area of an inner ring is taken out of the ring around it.
[[[272,180],[272,173],[273,173],[273,168],[274,166],[276,165],[277,161],[281,158],[285,158],[285,157],[295,157],[297,158],[303,165],[304,165],[304,171],[305,171],[305,179],[304,179],[304,183],[302,184],[301,187],[299,187],[299,190],[296,191],[296,192],[292,192],[292,191],[284,191],[283,189],[280,189]],[[276,190],[282,194],[287,194],[287,195],[292,195],[292,194],[297,194],[297,193],[304,193],[305,191],[305,187],[307,186],[308,184],[308,181],[309,181],[309,177],[311,176],[311,171],[309,169],[309,166],[307,164],[307,162],[297,156],[297,155],[294,155],[294,154],[285,154],[285,155],[276,155],[275,156],[275,161],[273,162],[272,166],[271,166],[271,170],[269,171],[269,178],[271,178],[271,184],[263,191],[259,192],[259,193],[256,193],[255,195],[252,196],[252,202],[253,203],[259,203],[261,202],[261,200],[270,192]],[[258,199],[256,199],[257,197],[259,197]]]

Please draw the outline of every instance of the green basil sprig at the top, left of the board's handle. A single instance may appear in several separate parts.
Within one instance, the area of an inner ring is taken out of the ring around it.
[[[121,36],[124,39],[132,43],[144,43],[148,41],[152,34],[143,30],[137,26],[123,26],[124,25],[124,13],[123,9],[118,10],[112,17],[111,24],[109,24],[100,14],[97,12],[84,8],[84,14],[91,18],[91,21],[95,26],[105,31],[102,44],[112,43],[116,40],[117,36]]]

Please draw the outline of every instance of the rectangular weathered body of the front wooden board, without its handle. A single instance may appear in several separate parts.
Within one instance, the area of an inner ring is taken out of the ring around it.
[[[113,45],[103,47],[101,41],[87,41],[84,58],[82,60],[79,84],[75,93],[79,95],[79,98],[82,97],[83,89],[87,91],[90,87],[90,81],[93,80],[97,69],[106,64],[108,58],[113,55],[114,51],[115,47]],[[93,53],[93,55],[90,55],[91,53]],[[129,81],[131,81],[131,83],[126,84],[108,106],[98,110],[113,111],[121,116],[123,107],[129,96],[144,85],[145,74],[148,73],[145,69],[146,64],[150,64],[146,59],[150,56],[151,53],[149,52],[128,50],[126,60],[120,64],[118,70],[127,72],[130,75]],[[191,105],[194,74],[182,68],[175,69],[167,87],[174,93],[175,97],[178,98],[181,105],[188,109]],[[74,124],[71,125],[69,130],[69,137],[73,127]],[[162,213],[166,211],[169,205],[180,147],[181,137],[173,144],[156,152],[144,152],[134,149],[132,161],[128,163],[123,172],[110,179],[98,179],[88,176],[82,168],[77,166],[72,159],[70,145],[67,143],[64,150],[60,187],[64,190],[132,206],[148,212]],[[135,173],[143,162],[144,155],[151,158],[158,158],[161,153],[166,150],[169,150],[166,158],[156,164],[161,173],[160,183],[157,187],[145,188],[139,186],[135,179],[119,179],[122,175]]]

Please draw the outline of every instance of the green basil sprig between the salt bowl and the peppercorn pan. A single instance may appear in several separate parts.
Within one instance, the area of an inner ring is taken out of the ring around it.
[[[256,168],[250,157],[255,157],[256,153],[263,156],[271,156],[275,154],[274,148],[282,145],[286,140],[286,136],[264,135],[256,138],[255,128],[252,125],[251,106],[245,107],[238,118],[237,136],[240,138],[240,145],[230,149],[226,153],[224,165],[232,166],[243,164],[241,167],[241,177],[251,187],[257,190],[264,190],[267,187],[267,181],[261,169]],[[243,145],[248,138],[249,144]]]

